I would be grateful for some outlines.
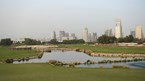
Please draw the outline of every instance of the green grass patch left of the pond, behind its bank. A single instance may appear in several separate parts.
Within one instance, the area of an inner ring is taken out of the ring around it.
[[[0,46],[0,60],[36,56],[39,54],[38,51],[34,50],[11,50],[10,48],[10,46]]]

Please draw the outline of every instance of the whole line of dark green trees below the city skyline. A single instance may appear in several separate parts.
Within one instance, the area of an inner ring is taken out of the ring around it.
[[[130,43],[130,42],[135,42],[135,43],[143,43],[143,40],[140,39],[136,39],[134,38],[132,35],[126,36],[124,38],[119,38],[117,39],[114,36],[106,36],[106,35],[102,35],[98,38],[97,40],[98,43],[101,44],[110,44],[110,43]],[[35,39],[31,39],[31,38],[25,38],[25,40],[22,42],[22,44],[25,45],[40,45],[40,44],[83,44],[85,43],[85,41],[83,39],[75,39],[75,40],[64,40],[63,42],[58,42],[56,39],[52,39],[48,42],[41,42]],[[13,41],[10,38],[6,38],[6,39],[1,39],[0,41],[0,45],[12,45]],[[18,43],[20,44],[20,43]]]

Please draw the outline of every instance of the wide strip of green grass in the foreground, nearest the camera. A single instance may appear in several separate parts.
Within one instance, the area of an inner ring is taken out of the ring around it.
[[[144,81],[144,69],[88,69],[0,64],[0,81]]]

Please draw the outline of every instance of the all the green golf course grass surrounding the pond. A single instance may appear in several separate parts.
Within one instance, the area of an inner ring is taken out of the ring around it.
[[[60,48],[81,48],[101,53],[144,54],[141,47],[114,47],[91,45],[59,45]],[[0,47],[0,60],[37,56],[40,51],[11,50]],[[0,81],[144,81],[145,69],[131,68],[73,68],[48,63],[0,63]]]

